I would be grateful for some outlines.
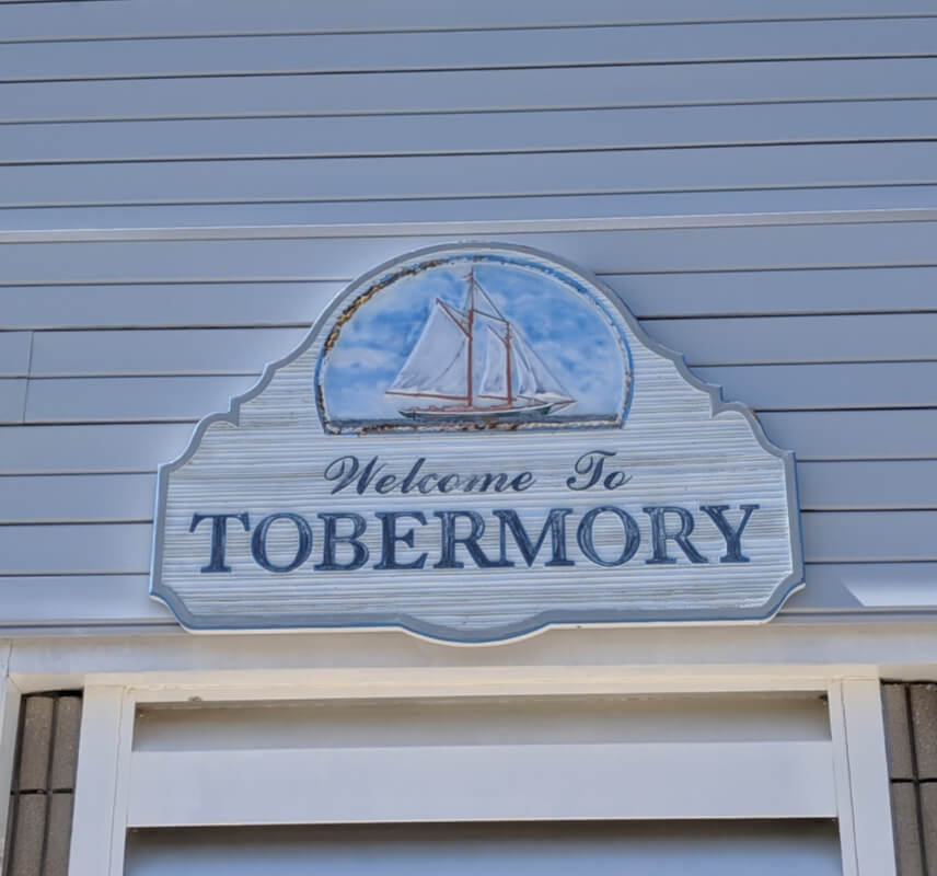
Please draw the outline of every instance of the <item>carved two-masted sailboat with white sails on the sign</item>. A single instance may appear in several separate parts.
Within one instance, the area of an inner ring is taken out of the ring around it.
[[[401,416],[420,424],[525,423],[575,404],[478,284],[474,267],[466,284],[463,308],[433,301],[416,345],[386,390],[436,403],[401,408]],[[481,377],[477,360],[484,362]]]

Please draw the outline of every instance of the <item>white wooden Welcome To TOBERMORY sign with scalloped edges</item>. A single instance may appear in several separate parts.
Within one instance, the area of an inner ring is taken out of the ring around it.
[[[192,630],[759,621],[802,581],[794,460],[559,258],[410,253],[159,473]]]

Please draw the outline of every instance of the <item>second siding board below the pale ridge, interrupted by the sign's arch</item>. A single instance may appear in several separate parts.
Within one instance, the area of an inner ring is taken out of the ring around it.
[[[880,313],[883,289],[890,311],[933,311],[937,268],[606,274],[602,279],[653,335],[657,323],[672,316]],[[8,286],[3,318],[18,328],[311,325],[347,280]]]

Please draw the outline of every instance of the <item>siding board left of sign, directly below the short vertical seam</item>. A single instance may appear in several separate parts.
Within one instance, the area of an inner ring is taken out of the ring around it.
[[[175,459],[185,450],[194,426],[193,418],[188,423],[0,427],[0,472],[151,472],[158,460]]]

